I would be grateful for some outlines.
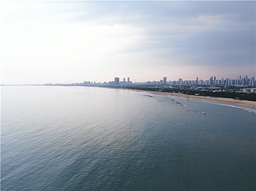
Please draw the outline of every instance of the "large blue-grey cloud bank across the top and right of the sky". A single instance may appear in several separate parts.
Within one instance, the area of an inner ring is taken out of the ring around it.
[[[33,9],[24,12],[19,3]],[[255,61],[255,1],[18,2],[16,9],[17,14],[10,15],[15,22],[46,20],[140,27],[145,39],[123,47],[119,50],[122,53],[166,49],[152,56],[194,54],[198,55],[198,64],[203,57],[216,64]]]

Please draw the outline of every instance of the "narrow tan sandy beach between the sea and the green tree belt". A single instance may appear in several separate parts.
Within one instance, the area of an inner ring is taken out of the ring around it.
[[[147,93],[155,94],[158,96],[184,97],[187,99],[201,100],[202,102],[207,102],[207,103],[225,104],[225,105],[232,105],[232,106],[237,106],[237,107],[241,107],[241,108],[256,110],[256,102],[246,101],[246,100],[236,100],[236,99],[231,99],[231,98],[190,96],[190,95],[180,94],[180,93],[153,92],[153,91],[151,92],[151,91],[144,91],[144,90],[138,90],[138,89],[128,89],[128,90],[132,90],[132,91],[136,91],[136,92],[147,92]]]

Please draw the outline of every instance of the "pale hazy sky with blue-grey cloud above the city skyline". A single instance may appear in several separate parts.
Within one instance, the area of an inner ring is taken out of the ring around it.
[[[1,1],[1,84],[255,76],[255,1]]]

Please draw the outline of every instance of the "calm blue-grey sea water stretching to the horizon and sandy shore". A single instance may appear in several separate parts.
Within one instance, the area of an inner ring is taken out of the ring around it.
[[[255,190],[255,117],[122,89],[2,86],[1,190]]]

